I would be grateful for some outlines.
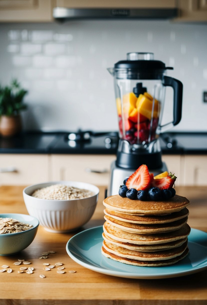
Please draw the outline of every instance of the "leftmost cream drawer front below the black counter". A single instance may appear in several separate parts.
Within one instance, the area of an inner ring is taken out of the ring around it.
[[[30,185],[49,181],[48,155],[0,154],[0,185]]]

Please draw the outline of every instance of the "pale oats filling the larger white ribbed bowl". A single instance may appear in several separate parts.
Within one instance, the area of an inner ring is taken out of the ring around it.
[[[54,184],[40,188],[32,194],[33,197],[50,200],[83,199],[93,195],[94,193],[89,190],[63,184]]]

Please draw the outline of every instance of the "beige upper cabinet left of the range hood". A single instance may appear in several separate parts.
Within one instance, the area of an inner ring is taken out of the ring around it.
[[[0,22],[50,22],[55,0],[0,0]]]

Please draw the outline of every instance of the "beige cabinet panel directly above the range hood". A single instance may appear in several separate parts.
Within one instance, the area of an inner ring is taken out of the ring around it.
[[[65,8],[175,8],[174,0],[57,0],[56,6]]]

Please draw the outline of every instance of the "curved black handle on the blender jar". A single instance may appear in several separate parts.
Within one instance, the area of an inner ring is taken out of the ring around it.
[[[183,91],[183,84],[178,79],[173,77],[164,76],[163,77],[163,85],[172,87],[174,90],[173,96],[173,122],[172,124],[175,126],[177,125],[182,116],[182,91]]]

